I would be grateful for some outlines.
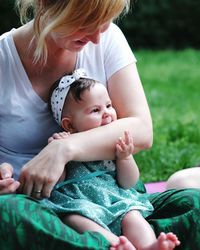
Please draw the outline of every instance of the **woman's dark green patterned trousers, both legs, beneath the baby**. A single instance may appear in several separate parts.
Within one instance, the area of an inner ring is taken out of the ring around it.
[[[169,190],[150,195],[155,208],[147,218],[158,235],[172,231],[181,240],[177,249],[200,249],[200,190]],[[134,230],[134,229],[133,229]],[[78,234],[53,213],[22,195],[0,196],[1,250],[108,249],[97,233]]]

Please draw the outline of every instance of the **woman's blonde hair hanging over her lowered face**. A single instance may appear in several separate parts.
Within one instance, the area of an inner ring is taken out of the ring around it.
[[[47,60],[46,37],[52,31],[68,36],[80,29],[95,31],[100,25],[127,13],[130,0],[17,0],[22,23],[34,19],[37,46],[34,61]]]

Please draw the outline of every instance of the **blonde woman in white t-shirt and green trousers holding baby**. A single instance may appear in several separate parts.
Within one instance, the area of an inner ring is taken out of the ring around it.
[[[152,122],[136,59],[112,23],[128,10],[128,0],[17,2],[21,17],[33,7],[34,19],[0,37],[0,192],[15,192],[20,182],[21,193],[49,197],[67,162],[114,159],[115,142],[125,130],[133,137],[135,153],[149,148]],[[47,108],[49,90],[57,79],[79,67],[107,86],[120,119],[45,147],[59,129]],[[142,184],[138,190],[144,192]],[[200,226],[194,223],[199,220],[200,193],[168,191],[150,200],[155,212],[147,219],[156,235],[173,231],[182,249],[198,249]],[[99,234],[77,234],[27,196],[2,195],[0,208],[1,249],[109,246]]]

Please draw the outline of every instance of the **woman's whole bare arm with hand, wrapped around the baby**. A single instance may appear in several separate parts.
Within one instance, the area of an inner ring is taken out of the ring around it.
[[[108,81],[108,90],[119,120],[48,144],[22,168],[22,192],[42,190],[42,196],[48,197],[71,160],[114,159],[116,142],[126,130],[133,137],[135,152],[151,146],[151,115],[136,65],[116,72]]]

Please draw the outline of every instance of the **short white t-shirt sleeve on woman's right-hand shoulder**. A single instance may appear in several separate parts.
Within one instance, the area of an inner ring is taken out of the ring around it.
[[[111,23],[104,39],[104,64],[106,78],[109,79],[118,70],[136,63],[136,58],[120,28]]]

